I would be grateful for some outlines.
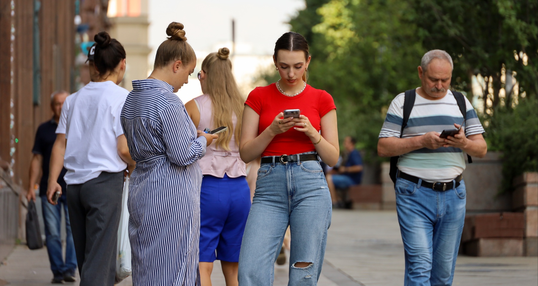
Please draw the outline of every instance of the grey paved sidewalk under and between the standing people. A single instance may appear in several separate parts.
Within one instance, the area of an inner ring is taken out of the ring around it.
[[[275,286],[287,285],[288,267],[275,267]],[[0,266],[0,286],[49,285],[52,274],[47,252],[17,246]],[[214,286],[224,286],[215,262]],[[404,284],[404,247],[395,211],[335,210],[319,286],[376,286]],[[66,283],[66,285],[79,285]],[[130,278],[121,284],[132,285]],[[459,256],[454,285],[538,285],[538,258],[477,258]]]

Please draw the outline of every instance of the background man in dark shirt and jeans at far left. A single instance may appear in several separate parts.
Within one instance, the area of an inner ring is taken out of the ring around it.
[[[69,96],[69,93],[66,91],[57,91],[52,94],[51,108],[54,116],[51,120],[41,124],[37,129],[36,141],[32,149],[33,158],[30,164],[30,186],[26,194],[26,198],[29,201],[36,200],[36,183],[41,173],[39,196],[41,197],[41,208],[43,209],[43,220],[45,222],[48,259],[51,262],[51,270],[54,274],[52,283],[62,283],[62,281],[74,282],[76,280],[75,246],[73,244],[73,236],[71,235],[69,215],[67,212],[66,182],[63,181],[63,176],[67,172],[66,168],[63,168],[58,178],[58,184],[62,187],[62,195],[58,199],[58,204],[54,206],[47,201],[48,166],[51,159],[52,146],[56,140],[56,127],[58,127],[58,122],[60,121],[63,101],[65,101],[67,96]],[[60,237],[62,206],[66,218],[65,262],[62,255],[62,241]]]

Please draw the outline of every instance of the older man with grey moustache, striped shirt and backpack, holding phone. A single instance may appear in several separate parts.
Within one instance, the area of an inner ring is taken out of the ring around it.
[[[394,98],[379,134],[379,155],[392,157],[406,286],[452,284],[465,218],[462,151],[487,151],[475,109],[449,90],[453,67],[443,50],[424,54],[422,86]]]

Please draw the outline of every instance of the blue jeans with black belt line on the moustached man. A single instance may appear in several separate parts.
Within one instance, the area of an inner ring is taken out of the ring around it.
[[[405,250],[405,286],[451,285],[465,220],[465,183],[437,192],[398,178],[396,208]]]

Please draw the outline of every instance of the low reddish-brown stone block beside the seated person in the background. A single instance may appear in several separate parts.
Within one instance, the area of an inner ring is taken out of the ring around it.
[[[357,185],[349,188],[353,209],[379,210],[383,199],[382,185]]]

